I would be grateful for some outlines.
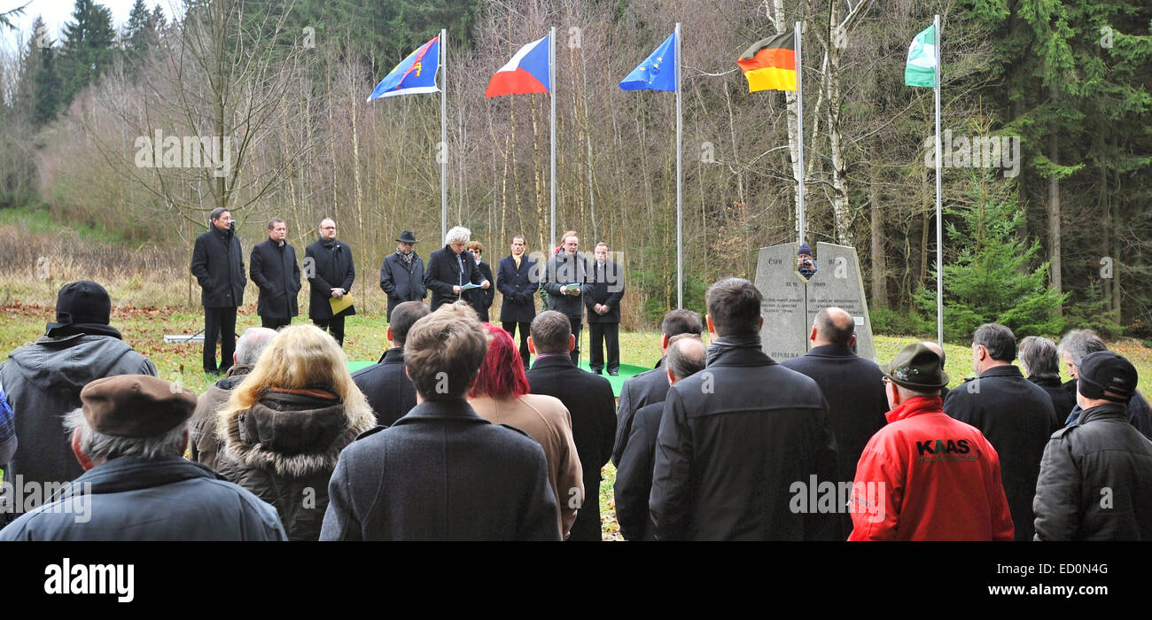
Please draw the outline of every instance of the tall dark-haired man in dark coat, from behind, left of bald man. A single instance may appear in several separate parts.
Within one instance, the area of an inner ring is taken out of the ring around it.
[[[708,288],[707,366],[668,388],[649,509],[660,540],[835,539],[835,514],[794,509],[795,484],[836,476],[828,406],[760,347],[763,295]],[[819,484],[819,483],[817,483]]]

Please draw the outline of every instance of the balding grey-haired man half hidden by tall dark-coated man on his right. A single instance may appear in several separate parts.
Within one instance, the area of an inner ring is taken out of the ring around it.
[[[696,334],[680,334],[668,345],[667,366],[659,369],[668,385],[704,370],[704,341]],[[647,502],[652,492],[652,462],[655,459],[655,437],[664,416],[664,402],[655,402],[636,411],[628,447],[620,458],[616,471],[616,522],[627,540],[652,540],[652,520]]]

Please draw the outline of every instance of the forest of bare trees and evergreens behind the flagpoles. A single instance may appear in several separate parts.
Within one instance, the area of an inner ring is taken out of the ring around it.
[[[302,259],[335,218],[357,308],[382,313],[377,271],[396,234],[414,230],[425,257],[441,245],[440,157],[448,225],[471,228],[487,260],[517,233],[545,251],[548,96],[484,89],[554,25],[556,229],[622,252],[624,330],[651,330],[676,302],[674,97],[617,83],[682,22],[685,307],[703,311],[708,283],[750,277],[758,248],[796,240],[795,99],[749,93],[735,60],[802,21],[806,241],[856,247],[874,331],[934,334],[932,89],[903,74],[940,14],[953,150],[1020,143],[1015,172],[946,150],[947,337],[987,320],[1017,335],[1152,337],[1140,0],[137,0],[122,24],[76,0],[60,32],[18,31],[12,5],[0,305],[51,307],[62,283],[91,278],[118,304],[195,310],[192,241],[227,206],[245,254],[281,217]],[[439,96],[365,103],[441,28],[446,145]],[[141,139],[158,131],[229,138],[227,169],[142,166]]]

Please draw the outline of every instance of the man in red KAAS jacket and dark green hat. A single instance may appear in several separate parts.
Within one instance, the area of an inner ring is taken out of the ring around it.
[[[1000,459],[975,426],[943,413],[948,375],[909,345],[880,366],[892,410],[856,464],[849,540],[1011,540]]]

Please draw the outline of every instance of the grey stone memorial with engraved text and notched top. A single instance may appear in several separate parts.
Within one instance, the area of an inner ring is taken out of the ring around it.
[[[856,249],[819,242],[816,244],[817,271],[805,280],[796,271],[798,243],[760,248],[756,265],[756,288],[764,295],[764,353],[780,362],[808,353],[812,323],[823,308],[843,308],[856,319],[856,353],[876,361],[872,322],[864,298]]]

